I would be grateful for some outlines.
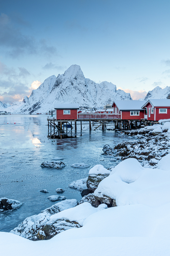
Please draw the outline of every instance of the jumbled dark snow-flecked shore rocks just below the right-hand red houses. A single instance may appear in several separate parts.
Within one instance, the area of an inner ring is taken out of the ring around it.
[[[166,132],[156,136],[147,135],[148,137],[138,140],[119,143],[112,149],[112,155],[120,160],[136,158],[142,166],[156,168],[159,160],[170,153],[170,134]],[[110,152],[108,155],[110,156]]]

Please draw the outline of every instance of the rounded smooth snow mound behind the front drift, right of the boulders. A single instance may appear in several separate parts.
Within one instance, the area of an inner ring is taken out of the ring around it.
[[[170,172],[144,168],[136,159],[126,159],[99,183],[94,196],[103,195],[115,199],[117,206],[156,207],[158,202],[159,205],[170,203]]]

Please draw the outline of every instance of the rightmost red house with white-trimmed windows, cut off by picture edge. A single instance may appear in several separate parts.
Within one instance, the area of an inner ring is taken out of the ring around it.
[[[145,118],[149,121],[170,118],[170,99],[149,99],[142,108],[145,110]]]

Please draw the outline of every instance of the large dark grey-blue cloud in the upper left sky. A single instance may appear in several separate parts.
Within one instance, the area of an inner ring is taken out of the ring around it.
[[[12,20],[6,14],[0,15],[0,47],[6,50],[7,55],[12,58],[24,54],[46,55],[48,57],[57,55],[57,49],[49,46],[45,39],[37,40],[31,35],[26,35],[22,28],[16,24],[16,19]],[[19,20],[17,20],[17,23]],[[24,22],[20,22],[24,28]]]

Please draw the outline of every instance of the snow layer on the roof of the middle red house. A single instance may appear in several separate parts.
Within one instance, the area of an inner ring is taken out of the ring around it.
[[[146,101],[113,101],[119,110],[141,110]]]

